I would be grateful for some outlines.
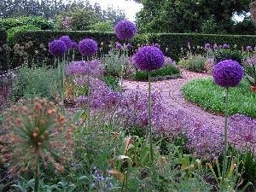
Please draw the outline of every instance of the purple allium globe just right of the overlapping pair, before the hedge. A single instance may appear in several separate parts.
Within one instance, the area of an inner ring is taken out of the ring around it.
[[[90,38],[84,38],[79,42],[79,52],[81,55],[92,56],[97,52],[98,46],[96,42]]]

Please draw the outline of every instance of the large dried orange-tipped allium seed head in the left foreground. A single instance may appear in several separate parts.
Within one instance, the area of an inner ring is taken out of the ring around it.
[[[73,125],[67,125],[57,106],[45,99],[20,101],[4,113],[0,136],[0,160],[9,163],[9,172],[19,175],[38,162],[52,164],[61,172],[73,158]]]

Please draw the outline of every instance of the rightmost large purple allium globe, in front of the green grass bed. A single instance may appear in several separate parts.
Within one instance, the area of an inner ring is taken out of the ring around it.
[[[237,61],[224,60],[216,64],[212,76],[221,87],[236,87],[243,78],[243,69]]]

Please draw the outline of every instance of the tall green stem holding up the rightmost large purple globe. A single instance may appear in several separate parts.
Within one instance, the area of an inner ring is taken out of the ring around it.
[[[225,125],[224,125],[224,160],[223,160],[223,172],[221,183],[224,185],[224,178],[227,168],[227,150],[228,150],[228,100],[229,100],[229,87],[226,89],[226,96],[225,96]]]

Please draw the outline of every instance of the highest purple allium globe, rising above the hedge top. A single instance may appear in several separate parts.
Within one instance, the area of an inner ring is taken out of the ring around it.
[[[131,39],[137,32],[136,26],[129,20],[121,20],[114,26],[114,32],[119,39]]]

